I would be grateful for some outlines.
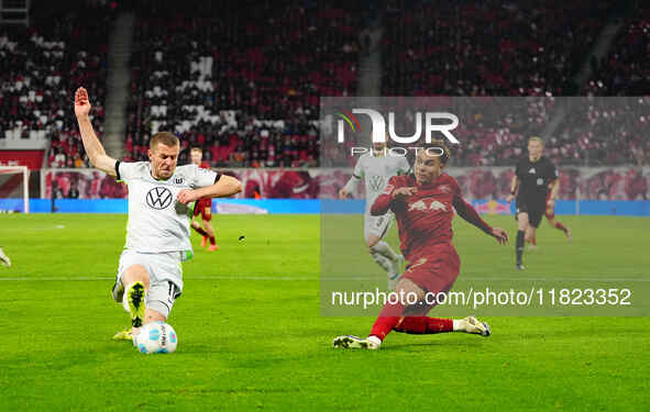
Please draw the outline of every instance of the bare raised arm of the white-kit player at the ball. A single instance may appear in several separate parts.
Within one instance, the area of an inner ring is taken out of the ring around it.
[[[79,133],[81,134],[81,142],[84,142],[84,149],[92,166],[115,177],[115,159],[106,154],[103,146],[99,142],[99,138],[97,138],[95,130],[92,130],[92,123],[90,123],[90,119],[88,118],[90,109],[88,91],[82,87],[78,88],[75,92],[75,115],[79,123]]]

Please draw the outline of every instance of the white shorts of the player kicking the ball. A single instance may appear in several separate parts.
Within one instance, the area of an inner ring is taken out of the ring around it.
[[[120,255],[118,282],[122,282],[122,275],[131,266],[144,266],[148,274],[146,307],[168,318],[174,302],[183,293],[183,267],[180,265],[183,256],[181,252],[139,253],[124,250]]]

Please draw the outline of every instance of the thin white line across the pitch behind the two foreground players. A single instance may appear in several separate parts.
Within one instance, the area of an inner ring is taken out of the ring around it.
[[[114,280],[114,276],[98,276],[98,277],[0,277],[0,281],[97,281],[97,280]],[[319,278],[319,277],[290,277],[290,276],[190,276],[187,280],[282,280],[282,281],[363,281],[377,280],[375,277],[350,277],[350,278]],[[547,281],[547,282],[572,282],[572,281],[603,281],[603,282],[650,282],[650,278],[472,278],[460,277],[459,280],[470,281]]]

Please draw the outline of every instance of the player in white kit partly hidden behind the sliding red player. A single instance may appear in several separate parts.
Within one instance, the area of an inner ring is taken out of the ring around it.
[[[410,165],[406,156],[390,156],[386,154],[386,143],[373,143],[373,153],[362,155],[352,177],[339,192],[341,199],[346,199],[356,190],[361,179],[365,183],[365,213],[363,215],[364,238],[368,253],[373,259],[386,270],[388,289],[394,290],[404,264],[404,256],[395,250],[383,238],[390,229],[393,213],[382,216],[371,215],[371,207],[375,199],[384,191],[388,179],[396,175],[407,174]]]

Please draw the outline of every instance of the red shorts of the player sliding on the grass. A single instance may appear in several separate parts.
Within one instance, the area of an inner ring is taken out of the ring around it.
[[[451,243],[434,245],[408,265],[403,278],[410,279],[427,292],[448,292],[461,270],[461,258]]]

